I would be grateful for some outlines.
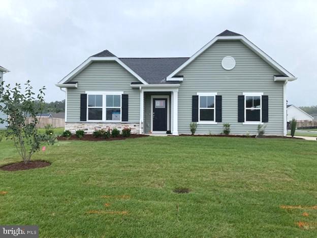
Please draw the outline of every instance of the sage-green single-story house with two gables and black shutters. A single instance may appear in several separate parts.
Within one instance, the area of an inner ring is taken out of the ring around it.
[[[192,57],[94,54],[56,86],[66,89],[65,128],[133,133],[286,135],[286,84],[297,78],[244,36],[228,30]]]

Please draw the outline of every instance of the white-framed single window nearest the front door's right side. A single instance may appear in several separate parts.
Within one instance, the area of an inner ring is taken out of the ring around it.
[[[216,93],[197,93],[198,123],[216,124]]]

